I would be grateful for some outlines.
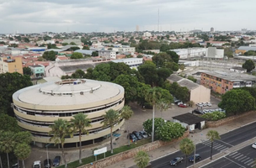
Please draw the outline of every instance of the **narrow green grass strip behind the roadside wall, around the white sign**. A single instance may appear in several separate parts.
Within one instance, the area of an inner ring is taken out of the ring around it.
[[[109,157],[111,155],[119,154],[120,152],[124,152],[126,150],[131,150],[133,148],[136,148],[136,147],[141,146],[143,144],[148,144],[150,142],[151,142],[151,138],[149,138],[149,139],[141,139],[141,140],[137,141],[136,144],[132,143],[130,146],[125,145],[125,146],[120,146],[119,148],[114,148],[113,154],[111,154],[110,150],[106,152],[106,157]],[[78,152],[79,152],[79,149],[77,149],[77,153]],[[97,155],[97,160],[101,160],[101,159],[104,159],[104,154]],[[89,156],[88,158],[83,158],[82,159],[83,163],[81,165],[86,165],[88,163],[92,163],[93,161],[95,161],[95,156]],[[81,165],[79,164],[79,158],[77,158],[76,161],[68,163],[67,167],[68,168],[76,168],[76,167],[81,166]],[[61,165],[59,167],[60,168],[64,168],[65,165]]]

